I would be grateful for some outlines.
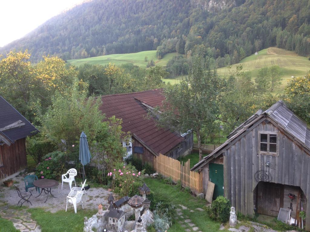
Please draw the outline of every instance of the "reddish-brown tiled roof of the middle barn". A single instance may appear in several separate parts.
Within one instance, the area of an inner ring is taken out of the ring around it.
[[[121,118],[122,130],[130,131],[151,153],[166,154],[184,138],[169,128],[158,127],[156,119],[148,117],[148,108],[142,104],[161,106],[164,99],[162,89],[106,95],[102,96],[100,110],[107,118],[113,115]]]

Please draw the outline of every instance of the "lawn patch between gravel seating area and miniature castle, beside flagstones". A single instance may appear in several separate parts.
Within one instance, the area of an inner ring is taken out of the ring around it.
[[[78,209],[77,213],[65,212],[65,210],[57,211],[57,213],[47,212],[42,208],[31,208],[28,210],[31,218],[38,222],[42,232],[71,232],[83,231],[84,217],[91,217],[97,210]]]

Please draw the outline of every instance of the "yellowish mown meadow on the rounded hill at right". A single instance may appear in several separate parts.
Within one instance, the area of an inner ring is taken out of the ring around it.
[[[250,71],[253,79],[258,75],[262,67],[273,65],[280,66],[281,76],[283,78],[281,86],[274,89],[275,93],[283,92],[287,82],[292,76],[304,76],[310,70],[310,61],[307,57],[299,56],[295,52],[280,48],[267,48],[258,52],[258,55],[251,55],[242,59],[238,64],[232,65],[232,70],[242,64],[244,71]],[[218,69],[220,76],[228,76],[228,68]]]

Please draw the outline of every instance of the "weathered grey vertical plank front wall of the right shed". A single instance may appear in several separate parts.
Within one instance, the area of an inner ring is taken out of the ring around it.
[[[258,152],[259,131],[278,133],[278,155]],[[278,129],[275,122],[260,120],[234,140],[223,151],[223,156],[224,195],[237,211],[245,215],[252,216],[254,213],[253,191],[259,181],[297,186],[307,199],[310,198],[309,153]],[[266,166],[267,162],[269,167]],[[310,200],[307,201],[307,208],[310,207],[309,203]],[[307,213],[306,229],[310,230],[310,213]]]

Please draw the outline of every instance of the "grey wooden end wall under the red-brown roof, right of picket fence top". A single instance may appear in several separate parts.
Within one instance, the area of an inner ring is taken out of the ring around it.
[[[184,136],[184,140],[179,146],[176,146],[166,154],[165,156],[169,156],[171,158],[177,159],[181,156],[186,156],[193,151],[193,133],[188,133]]]

